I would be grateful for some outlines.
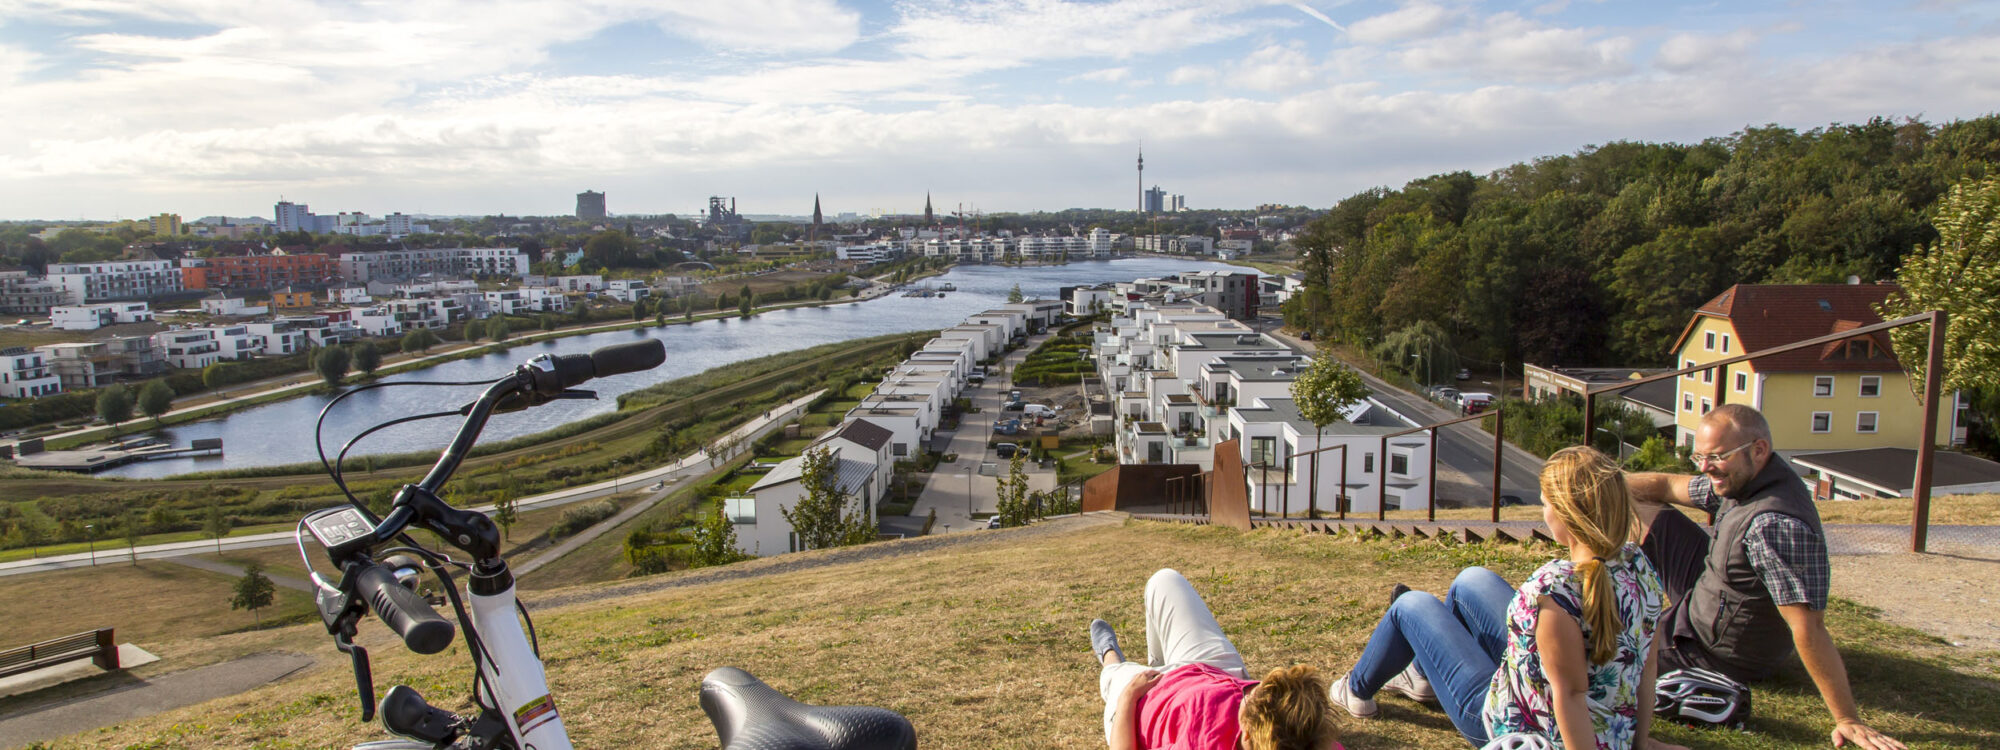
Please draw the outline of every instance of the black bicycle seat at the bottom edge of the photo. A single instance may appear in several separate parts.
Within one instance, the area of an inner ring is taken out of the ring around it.
[[[734,666],[702,678],[702,712],[722,750],[916,750],[916,728],[898,712],[808,706]]]

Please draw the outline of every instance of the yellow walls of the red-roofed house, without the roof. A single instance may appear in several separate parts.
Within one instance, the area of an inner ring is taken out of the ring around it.
[[[1694,328],[1676,352],[1674,366],[1686,368],[1744,354],[1742,336],[1726,318],[1696,316]],[[1750,404],[1770,422],[1778,450],[1916,448],[1924,414],[1902,370],[1888,372],[1758,372],[1754,362],[1738,362],[1716,372],[1676,378],[1676,440],[1690,444],[1702,414],[1722,398]],[[1872,394],[1864,394],[1872,392]],[[1950,442],[1954,400],[1938,398],[1938,444]],[[1872,422],[1872,430],[1870,428]]]

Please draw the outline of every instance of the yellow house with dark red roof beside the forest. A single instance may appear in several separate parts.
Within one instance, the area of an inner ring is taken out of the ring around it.
[[[1894,284],[1736,284],[1694,310],[1674,342],[1674,364],[1690,368],[1872,326],[1882,322],[1874,306],[1890,292]],[[1674,436],[1684,446],[1718,396],[1764,412],[1774,448],[1784,452],[1914,448],[1924,426],[1910,378],[1880,332],[1682,376],[1676,390]],[[1960,396],[1938,400],[1938,444],[1964,442]]]

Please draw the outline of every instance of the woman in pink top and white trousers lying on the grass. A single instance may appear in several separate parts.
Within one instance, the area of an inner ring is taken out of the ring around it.
[[[1326,682],[1310,666],[1250,680],[1236,644],[1174,570],[1146,582],[1146,662],[1126,662],[1104,620],[1090,622],[1104,670],[1104,740],[1112,750],[1338,750]]]

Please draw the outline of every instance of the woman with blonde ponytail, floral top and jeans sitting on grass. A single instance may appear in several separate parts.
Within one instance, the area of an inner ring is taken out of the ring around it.
[[[1568,556],[1520,590],[1486,568],[1458,574],[1444,602],[1398,584],[1332,702],[1374,718],[1382,688],[1442,700],[1474,746],[1536,734],[1570,750],[1674,748],[1648,736],[1660,574],[1632,542],[1618,464],[1592,448],[1550,456],[1542,520]]]

